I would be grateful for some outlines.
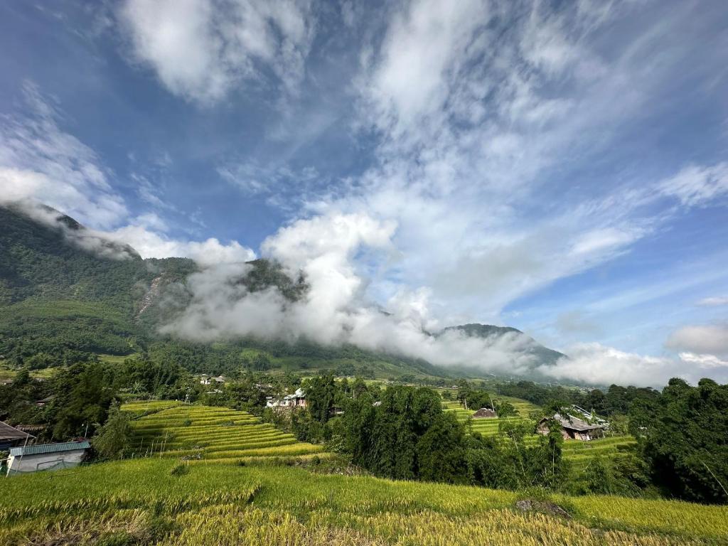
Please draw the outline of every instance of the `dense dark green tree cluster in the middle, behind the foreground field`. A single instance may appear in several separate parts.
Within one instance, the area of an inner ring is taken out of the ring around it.
[[[292,416],[306,423],[296,430],[299,438],[325,440],[376,475],[513,489],[555,487],[566,477],[556,430],[530,446],[525,438],[533,424],[505,424],[492,438],[469,435],[454,413],[443,411],[439,393],[427,387],[381,390],[357,380],[347,392],[348,385],[331,376],[305,387],[309,410]],[[343,416],[332,417],[335,404],[344,408]]]

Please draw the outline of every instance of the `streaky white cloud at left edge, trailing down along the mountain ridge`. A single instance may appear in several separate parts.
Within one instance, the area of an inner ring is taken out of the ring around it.
[[[33,84],[25,84],[27,116],[6,118],[0,124],[0,205],[13,204],[36,220],[58,226],[71,242],[111,258],[185,256],[201,264],[251,260],[256,254],[237,241],[223,244],[175,240],[169,226],[156,213],[131,218],[124,199],[111,187],[113,173],[95,152],[59,126],[61,114],[41,97]],[[141,197],[165,210],[146,178],[136,177]],[[68,229],[48,205],[74,218],[87,229]],[[121,227],[119,227],[121,226]],[[110,242],[119,244],[112,245]]]

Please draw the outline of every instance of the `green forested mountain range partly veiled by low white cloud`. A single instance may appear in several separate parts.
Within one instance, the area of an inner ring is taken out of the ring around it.
[[[307,289],[303,277],[291,279],[278,264],[249,264],[250,272],[236,282],[252,292],[276,286],[293,301]],[[351,345],[253,338],[200,344],[163,336],[159,327],[191,301],[186,279],[198,270],[187,258],[142,259],[130,246],[109,242],[50,207],[0,206],[0,355],[32,368],[89,354],[141,354],[212,373],[245,367],[331,368],[386,378],[452,375],[424,360]],[[468,336],[526,335],[488,325],[453,328]],[[531,341],[528,351],[543,363],[563,356]]]

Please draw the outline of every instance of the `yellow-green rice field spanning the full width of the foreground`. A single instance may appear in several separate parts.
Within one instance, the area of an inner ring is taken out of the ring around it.
[[[301,467],[135,459],[8,478],[0,544],[720,545],[728,507],[558,496],[573,519],[521,513],[526,496],[322,475]]]

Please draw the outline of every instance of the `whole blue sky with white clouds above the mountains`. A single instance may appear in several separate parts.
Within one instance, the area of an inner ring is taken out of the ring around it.
[[[0,75],[0,199],[197,260],[199,302],[264,256],[315,285],[269,331],[728,381],[724,1],[6,1]]]

